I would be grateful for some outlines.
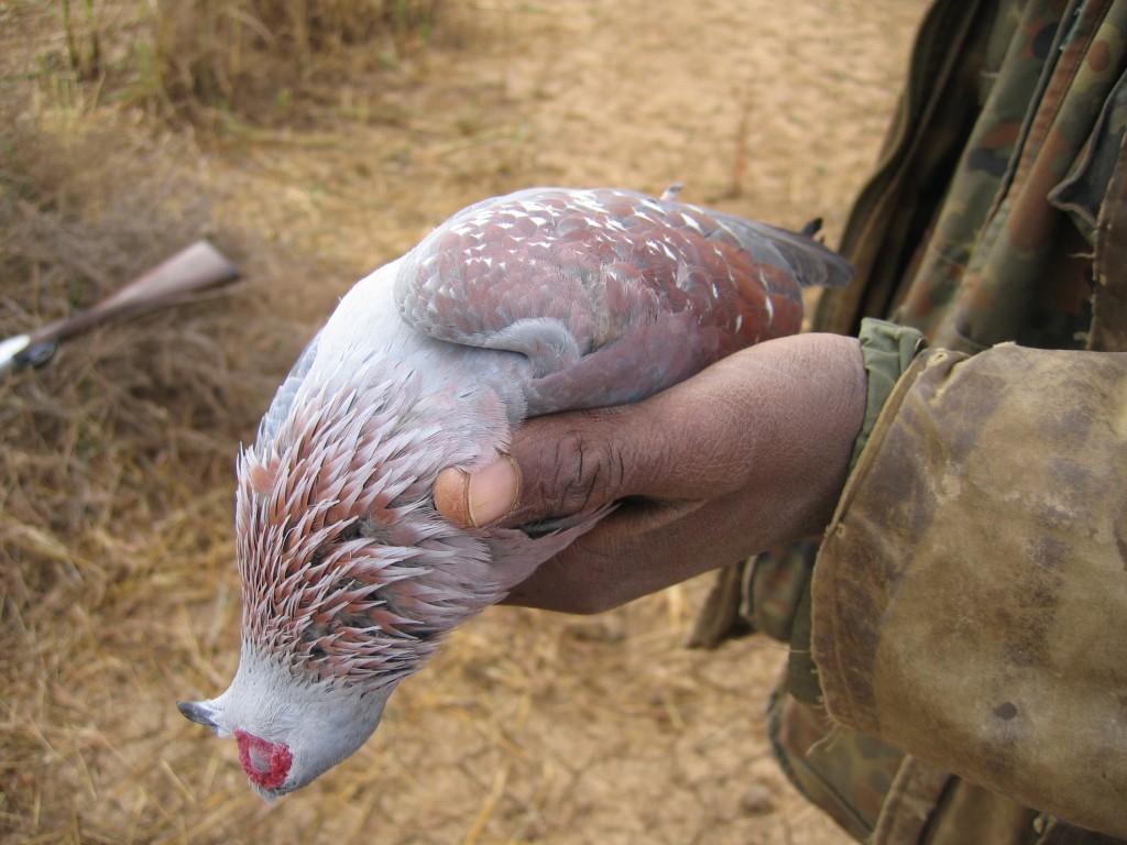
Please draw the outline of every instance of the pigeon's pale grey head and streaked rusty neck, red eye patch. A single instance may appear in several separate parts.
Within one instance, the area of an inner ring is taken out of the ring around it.
[[[356,750],[399,681],[504,594],[481,536],[434,510],[440,442],[460,441],[425,411],[409,373],[376,371],[299,392],[241,456],[239,669],[179,709],[238,741],[268,799]]]

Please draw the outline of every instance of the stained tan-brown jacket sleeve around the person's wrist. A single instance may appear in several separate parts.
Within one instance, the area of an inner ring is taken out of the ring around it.
[[[814,569],[840,724],[1127,836],[1127,354],[934,350]]]

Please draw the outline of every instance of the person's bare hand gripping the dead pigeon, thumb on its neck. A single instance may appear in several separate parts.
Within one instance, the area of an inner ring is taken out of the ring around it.
[[[828,524],[866,407],[860,344],[760,344],[637,404],[529,420],[511,457],[443,470],[435,506],[511,527],[618,502],[511,604],[595,613]]]

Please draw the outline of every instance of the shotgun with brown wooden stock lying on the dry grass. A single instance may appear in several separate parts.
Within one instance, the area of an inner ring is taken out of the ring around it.
[[[59,344],[110,320],[184,302],[233,282],[239,272],[207,241],[196,241],[95,304],[89,311],[0,341],[0,377],[45,364]]]

